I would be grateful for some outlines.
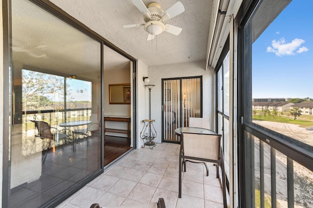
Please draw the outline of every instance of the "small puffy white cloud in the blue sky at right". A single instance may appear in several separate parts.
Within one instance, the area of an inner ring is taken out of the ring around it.
[[[286,43],[284,38],[281,38],[279,41],[273,40],[272,46],[268,46],[267,52],[273,52],[276,56],[290,56],[296,53],[303,53],[309,50],[304,46],[300,47],[304,42],[304,40],[297,38],[288,43]]]

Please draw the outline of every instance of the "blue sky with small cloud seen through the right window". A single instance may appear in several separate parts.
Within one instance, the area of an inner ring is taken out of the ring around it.
[[[313,0],[292,0],[252,45],[252,98],[313,98]]]

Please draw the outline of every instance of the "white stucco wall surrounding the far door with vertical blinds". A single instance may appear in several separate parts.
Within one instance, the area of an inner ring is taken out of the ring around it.
[[[156,120],[155,128],[157,137],[156,143],[161,142],[161,79],[179,78],[202,75],[202,117],[208,117],[213,121],[212,104],[213,104],[213,69],[205,71],[205,62],[185,62],[176,64],[165,64],[148,67],[148,77],[150,83],[156,84],[151,90],[151,119]],[[142,79],[141,79],[142,80]],[[147,97],[148,99],[148,97]],[[139,108],[140,109],[140,108]],[[149,110],[149,105],[147,105]],[[148,114],[149,116],[149,114]]]

